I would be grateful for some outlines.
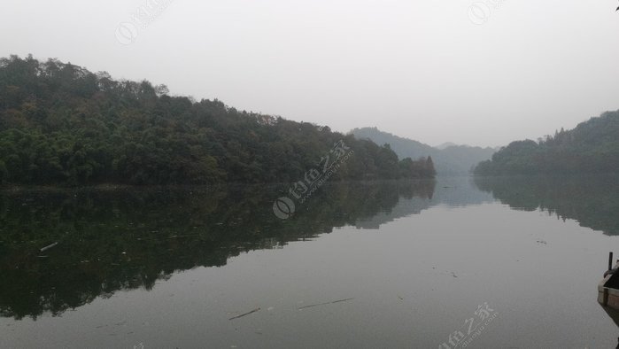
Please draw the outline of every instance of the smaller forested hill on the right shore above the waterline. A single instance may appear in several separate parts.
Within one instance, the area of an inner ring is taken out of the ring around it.
[[[619,112],[555,132],[538,142],[510,143],[480,163],[477,175],[617,174],[619,173]]]

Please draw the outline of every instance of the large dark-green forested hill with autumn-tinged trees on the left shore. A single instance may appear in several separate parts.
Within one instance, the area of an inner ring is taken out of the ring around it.
[[[57,59],[0,59],[0,183],[298,182],[336,161],[332,180],[434,175],[431,160],[329,128]]]

